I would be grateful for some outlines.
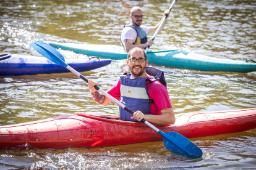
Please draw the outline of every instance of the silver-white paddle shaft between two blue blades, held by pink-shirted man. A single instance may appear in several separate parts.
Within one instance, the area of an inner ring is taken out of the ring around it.
[[[75,71],[74,68],[70,67],[69,65],[67,65],[66,67],[68,70],[70,70],[72,73],[74,73],[76,76],[78,76],[79,78],[83,79],[84,81],[86,81],[88,83],[88,79],[85,78],[83,75],[81,75],[79,72]],[[112,95],[108,94],[107,92],[103,91],[100,87],[98,86],[94,86],[95,89],[97,91],[100,91],[102,94],[104,94],[106,97],[108,97],[110,100],[112,100],[113,102],[115,102],[117,105],[119,105],[121,108],[123,108],[124,110],[128,111],[129,113],[131,113],[132,115],[134,115],[134,111],[130,110],[130,108],[127,108],[126,105],[124,105],[123,103],[119,102],[118,100],[116,100]],[[153,124],[149,123],[148,121],[146,121],[145,119],[141,120],[143,123],[147,124],[149,127],[151,127],[154,131],[159,132],[160,129],[156,128],[155,126],[153,126]]]

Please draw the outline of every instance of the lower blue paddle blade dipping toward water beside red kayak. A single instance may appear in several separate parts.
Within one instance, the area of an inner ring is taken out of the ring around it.
[[[162,136],[165,147],[173,153],[189,158],[200,158],[203,155],[202,150],[197,145],[181,134],[177,132],[162,133],[164,134]]]

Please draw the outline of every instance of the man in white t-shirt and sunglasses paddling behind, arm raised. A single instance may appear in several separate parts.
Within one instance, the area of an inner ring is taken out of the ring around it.
[[[164,16],[168,15],[169,17],[169,14],[169,10],[164,11]],[[161,21],[156,26],[148,27],[142,25],[143,17],[143,10],[140,7],[130,9],[130,24],[124,26],[121,33],[121,44],[127,52],[134,47],[145,49],[153,44],[153,41],[148,41],[147,34],[153,35]]]

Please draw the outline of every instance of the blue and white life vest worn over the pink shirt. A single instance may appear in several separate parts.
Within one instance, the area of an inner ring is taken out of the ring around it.
[[[149,99],[148,97],[146,81],[160,80],[160,78],[158,77],[160,76],[163,82],[165,83],[165,78],[164,78],[163,71],[158,70],[157,68],[146,67],[146,72],[148,73],[148,75],[155,76],[155,77],[151,79],[148,79],[148,78],[130,79],[130,75],[127,75],[127,74],[120,76],[121,97],[119,101],[133,111],[140,110],[144,115],[149,115],[151,111],[150,103],[154,103],[154,100]],[[166,83],[163,85],[166,86]],[[126,121],[139,122],[136,119],[131,119],[130,118],[131,116],[132,115],[130,115],[128,111],[119,107],[120,119],[126,120]]]

